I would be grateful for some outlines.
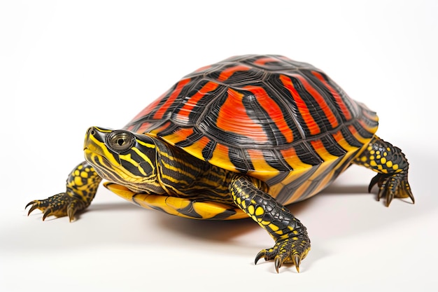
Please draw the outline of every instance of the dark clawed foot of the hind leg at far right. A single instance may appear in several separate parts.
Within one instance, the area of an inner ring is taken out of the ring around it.
[[[394,197],[409,197],[412,203],[415,203],[414,195],[412,195],[411,187],[407,180],[407,174],[399,172],[397,174],[376,174],[369,183],[368,192],[377,184],[379,192],[377,193],[377,200],[385,197],[386,207],[389,207]]]

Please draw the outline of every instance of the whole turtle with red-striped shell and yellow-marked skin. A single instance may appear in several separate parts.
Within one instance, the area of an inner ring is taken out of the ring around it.
[[[376,113],[323,71],[282,55],[238,55],[197,69],[125,127],[90,127],[66,191],[33,200],[47,216],[83,211],[97,188],[185,218],[252,218],[274,239],[255,257],[299,265],[306,227],[288,204],[316,195],[350,165],[376,172],[389,206],[414,196],[404,153],[376,136]]]

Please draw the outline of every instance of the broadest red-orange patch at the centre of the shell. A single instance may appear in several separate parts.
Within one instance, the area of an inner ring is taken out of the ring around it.
[[[227,89],[228,97],[220,107],[216,125],[222,130],[250,137],[254,141],[266,142],[268,137],[259,123],[248,116],[243,106],[243,94]]]

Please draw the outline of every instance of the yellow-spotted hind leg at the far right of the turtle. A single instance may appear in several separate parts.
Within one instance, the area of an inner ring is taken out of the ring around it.
[[[369,183],[368,191],[377,184],[377,198],[384,196],[387,207],[394,197],[409,197],[415,202],[408,181],[409,163],[400,148],[375,136],[354,163],[378,172]]]

